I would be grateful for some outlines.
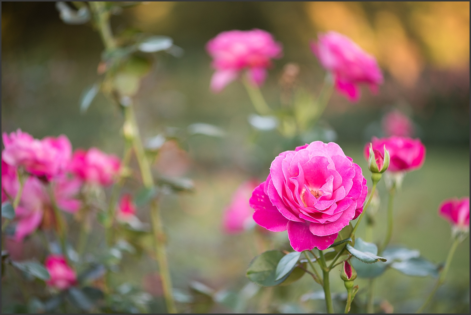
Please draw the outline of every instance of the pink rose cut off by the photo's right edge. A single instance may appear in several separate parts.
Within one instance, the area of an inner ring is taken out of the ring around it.
[[[439,214],[457,229],[468,231],[470,228],[470,197],[443,201],[439,206]]]

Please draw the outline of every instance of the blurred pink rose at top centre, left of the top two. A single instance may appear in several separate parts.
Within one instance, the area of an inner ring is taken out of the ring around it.
[[[211,90],[220,92],[247,69],[252,83],[260,86],[267,77],[272,58],[282,56],[282,46],[266,31],[227,31],[208,41],[206,50],[213,58],[216,72],[211,78]]]

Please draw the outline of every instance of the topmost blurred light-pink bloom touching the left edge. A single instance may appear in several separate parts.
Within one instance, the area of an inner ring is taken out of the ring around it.
[[[34,139],[21,129],[3,133],[2,159],[13,167],[23,166],[38,177],[50,179],[61,173],[70,162],[72,145],[69,139],[60,135],[57,138]]]

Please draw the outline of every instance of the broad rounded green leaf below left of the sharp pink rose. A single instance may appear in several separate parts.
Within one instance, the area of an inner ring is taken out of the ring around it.
[[[278,266],[278,263],[284,255],[281,250],[268,250],[256,256],[250,262],[247,270],[247,278],[253,283],[263,287],[272,287],[282,283],[286,280],[288,275],[278,280],[275,280],[275,278],[276,266]]]

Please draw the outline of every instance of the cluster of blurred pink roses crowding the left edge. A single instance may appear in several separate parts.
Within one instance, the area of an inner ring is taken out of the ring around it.
[[[88,152],[79,149],[72,155],[72,145],[64,135],[39,140],[18,129],[2,136],[2,203],[15,199],[20,192],[19,176],[24,177],[15,209],[17,241],[32,234],[41,223],[47,226],[44,214],[53,207],[70,213],[80,210],[78,195],[83,184],[108,186],[121,167],[117,157],[96,148]]]

